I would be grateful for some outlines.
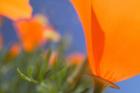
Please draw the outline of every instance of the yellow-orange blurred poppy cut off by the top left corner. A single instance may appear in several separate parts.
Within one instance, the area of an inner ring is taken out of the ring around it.
[[[31,17],[29,0],[0,0],[0,15],[12,20]]]

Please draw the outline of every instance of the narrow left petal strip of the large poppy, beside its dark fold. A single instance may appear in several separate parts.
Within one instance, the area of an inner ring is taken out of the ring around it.
[[[92,7],[91,7],[91,0],[86,0],[83,2],[81,0],[71,0],[72,5],[74,6],[77,14],[79,15],[80,21],[83,25],[84,33],[85,33],[85,40],[86,40],[86,47],[88,53],[88,60],[89,66],[92,69],[93,73],[96,73],[94,67],[94,54],[93,54],[93,41],[92,41],[92,29],[91,29],[91,15],[92,15]]]

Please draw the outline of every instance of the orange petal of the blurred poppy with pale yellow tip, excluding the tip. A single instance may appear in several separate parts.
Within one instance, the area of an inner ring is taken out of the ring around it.
[[[15,26],[26,51],[32,51],[45,40],[45,26],[38,19],[19,20]]]

